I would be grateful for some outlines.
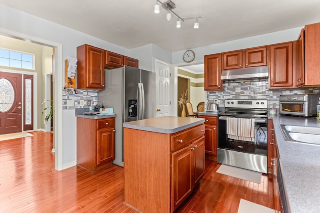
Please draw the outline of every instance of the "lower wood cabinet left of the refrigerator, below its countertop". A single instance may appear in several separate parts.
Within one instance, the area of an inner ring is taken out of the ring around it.
[[[76,164],[96,172],[114,160],[114,118],[76,118]]]

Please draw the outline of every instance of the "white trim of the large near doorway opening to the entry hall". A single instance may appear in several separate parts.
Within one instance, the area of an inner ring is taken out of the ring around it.
[[[0,27],[0,34],[12,37],[24,41],[30,41],[33,43],[37,43],[44,46],[49,46],[54,48],[54,60],[53,60],[53,69],[52,74],[54,76],[55,81],[53,81],[53,106],[54,106],[54,124],[53,124],[53,143],[54,143],[54,161],[55,161],[55,169],[62,170],[63,169],[63,128],[62,128],[62,89],[63,79],[64,79],[64,71],[63,71],[63,54],[62,54],[62,44],[56,43],[53,41],[49,41],[46,39],[38,38],[35,36],[27,35],[24,33],[4,29]]]

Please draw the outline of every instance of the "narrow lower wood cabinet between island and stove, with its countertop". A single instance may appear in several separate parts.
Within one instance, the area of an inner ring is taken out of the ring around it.
[[[205,157],[216,161],[217,157],[217,116],[201,116],[205,125]]]

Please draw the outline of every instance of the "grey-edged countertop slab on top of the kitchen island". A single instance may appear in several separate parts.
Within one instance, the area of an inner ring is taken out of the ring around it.
[[[123,123],[124,128],[158,132],[176,133],[181,130],[204,123],[203,118],[164,116]]]

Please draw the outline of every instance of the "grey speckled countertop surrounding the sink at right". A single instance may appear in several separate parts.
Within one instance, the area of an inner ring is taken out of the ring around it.
[[[280,169],[292,213],[320,212],[320,146],[285,141],[279,124],[318,127],[315,117],[269,115],[279,151]]]

